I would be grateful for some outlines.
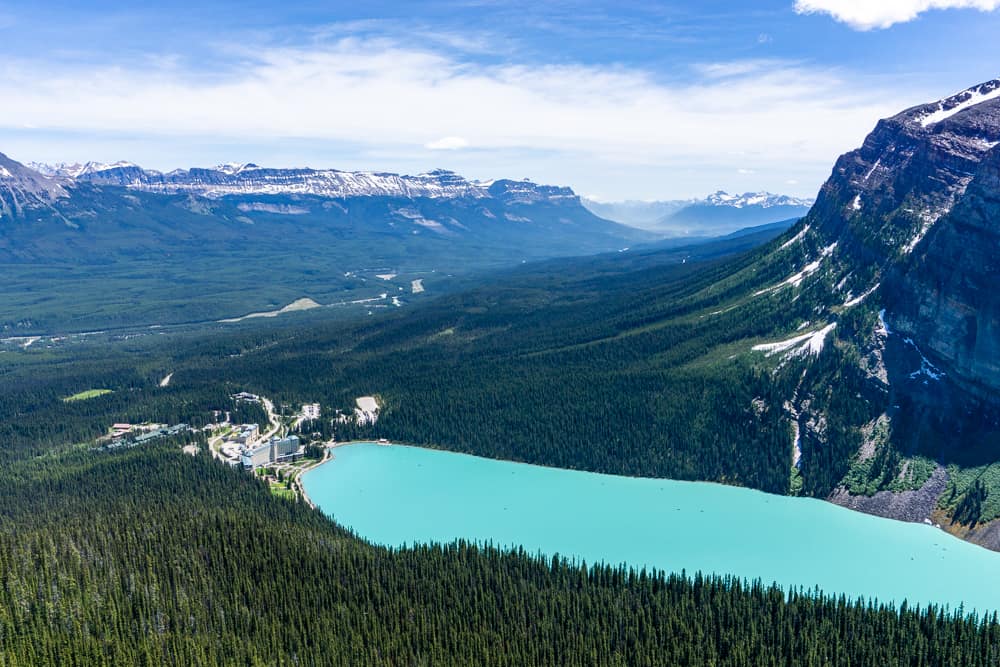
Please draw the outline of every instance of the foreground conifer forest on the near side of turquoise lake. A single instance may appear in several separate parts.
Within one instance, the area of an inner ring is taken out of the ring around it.
[[[0,480],[0,665],[990,666],[1000,624],[467,544],[389,550],[150,445]]]

